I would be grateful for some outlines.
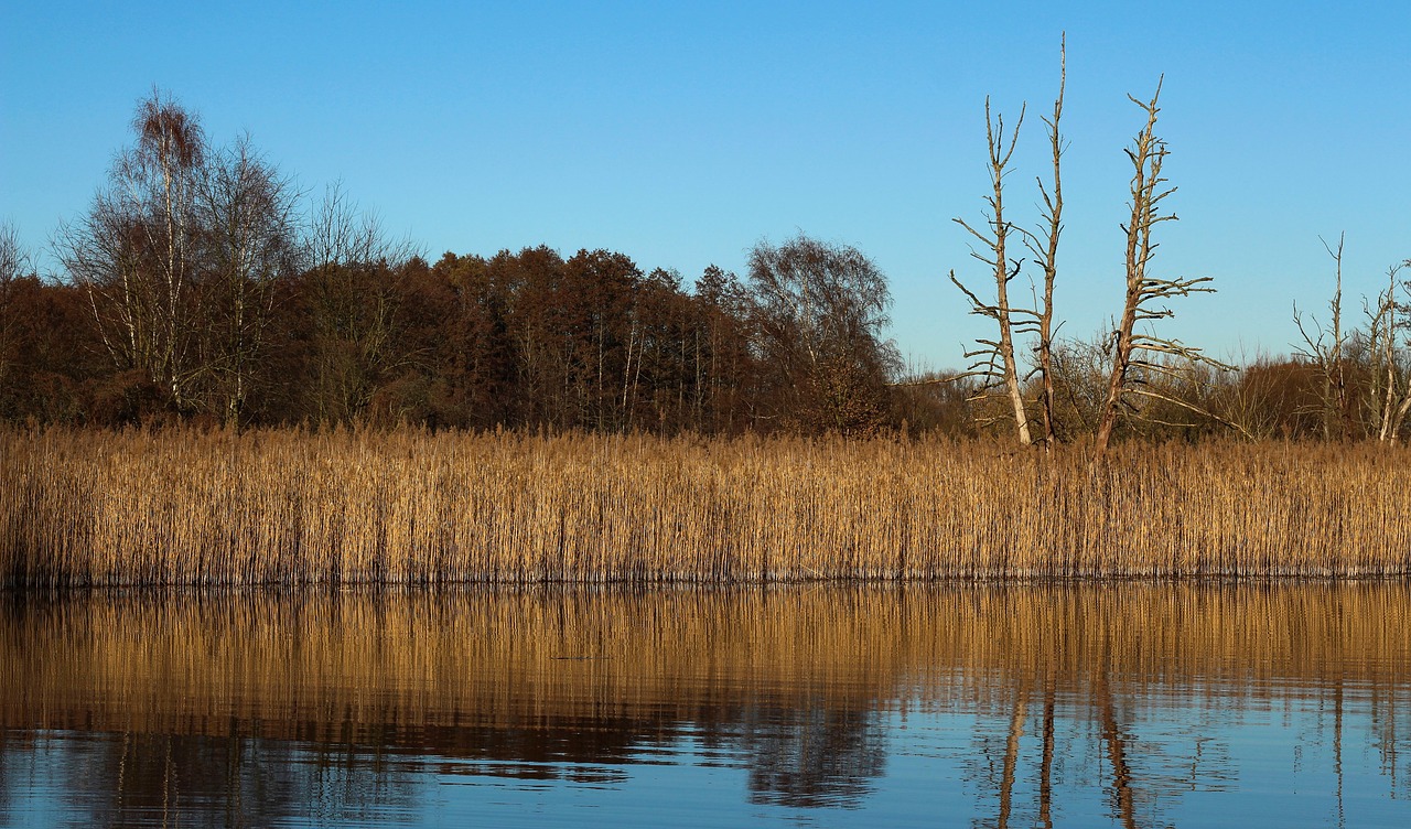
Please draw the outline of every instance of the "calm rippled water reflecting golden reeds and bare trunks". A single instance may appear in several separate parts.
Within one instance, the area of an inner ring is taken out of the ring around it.
[[[1407,826],[1405,585],[0,602],[6,826]]]

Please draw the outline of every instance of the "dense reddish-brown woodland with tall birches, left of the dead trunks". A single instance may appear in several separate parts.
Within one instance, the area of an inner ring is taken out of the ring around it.
[[[158,94],[40,279],[0,237],[0,416],[45,423],[869,433],[897,422],[886,281],[761,242],[742,282],[546,247],[428,262],[340,189]]]

